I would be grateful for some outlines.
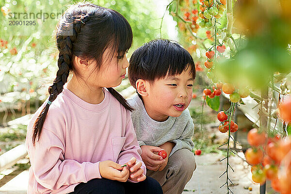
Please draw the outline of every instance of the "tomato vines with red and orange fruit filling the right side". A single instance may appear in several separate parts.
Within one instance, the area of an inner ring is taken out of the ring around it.
[[[221,122],[218,130],[228,134],[223,173],[227,194],[232,193],[228,158],[230,152],[235,153],[229,142],[231,133],[239,129],[233,117],[236,107],[248,101],[246,97],[259,107],[258,129],[250,130],[252,147],[245,152],[247,162],[253,165],[253,180],[263,184],[266,178],[272,179],[274,190],[291,193],[291,186],[286,186],[291,185],[290,138],[286,137],[291,135],[291,97],[286,97],[291,93],[291,1],[173,0],[167,10],[178,23],[181,44],[195,55],[196,71],[204,70],[200,63],[206,67],[210,85],[203,90],[202,107],[206,102],[218,111],[222,92],[231,102],[228,110],[217,114]],[[264,161],[269,163],[258,166]]]

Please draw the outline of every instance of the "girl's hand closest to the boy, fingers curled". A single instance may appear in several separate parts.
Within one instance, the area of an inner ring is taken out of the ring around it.
[[[143,181],[146,179],[144,169],[141,168],[142,162],[136,162],[136,158],[132,157],[127,163],[129,168],[129,179],[135,182]]]

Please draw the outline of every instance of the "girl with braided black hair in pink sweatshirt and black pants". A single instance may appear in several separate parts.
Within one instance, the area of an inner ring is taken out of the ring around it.
[[[60,19],[59,70],[27,129],[28,194],[162,193],[145,176],[132,108],[112,88],[125,77],[131,43],[129,23],[114,10],[83,2]]]

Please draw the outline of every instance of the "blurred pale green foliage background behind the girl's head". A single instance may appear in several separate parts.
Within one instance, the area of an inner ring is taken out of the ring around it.
[[[55,78],[58,53],[53,31],[61,14],[74,2],[77,1],[0,0],[1,105],[46,99],[48,87],[39,86]],[[129,56],[144,42],[159,36],[160,22],[157,20],[160,19],[156,9],[153,9],[155,8],[153,0],[93,0],[92,2],[112,8],[128,19],[133,31],[133,45],[129,50]],[[25,13],[30,18],[25,19]],[[49,18],[46,18],[46,14]],[[35,20],[36,24],[9,25],[9,21],[20,20],[25,23]],[[164,29],[166,25],[163,25]],[[166,33],[164,34],[164,37],[167,37]]]

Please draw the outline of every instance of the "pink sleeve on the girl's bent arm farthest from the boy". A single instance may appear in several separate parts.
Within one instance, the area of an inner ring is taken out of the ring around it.
[[[35,143],[35,146],[30,143],[30,161],[39,184],[50,190],[58,190],[63,185],[101,178],[99,162],[79,163],[75,160],[65,160],[64,151],[65,146],[62,141],[45,128],[42,129],[40,140]]]

